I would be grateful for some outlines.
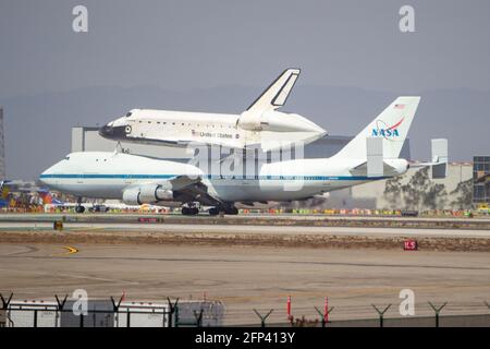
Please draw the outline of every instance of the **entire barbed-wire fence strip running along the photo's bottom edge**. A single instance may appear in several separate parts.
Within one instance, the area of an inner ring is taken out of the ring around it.
[[[12,301],[12,296],[4,299],[1,294],[0,298],[0,327],[490,327],[488,302],[451,304],[451,311],[464,310],[469,314],[442,314],[448,303],[429,302],[430,308],[426,306],[432,315],[426,312],[400,317],[391,304],[335,309],[327,300],[321,308],[295,308],[296,314],[308,315],[293,316],[290,305],[286,313],[285,309],[275,312],[274,309],[244,309],[226,313],[224,304],[213,300],[167,299],[167,303],[154,303],[111,298],[90,300],[83,309],[77,300],[66,297],[63,300],[56,297],[56,301]],[[367,310],[372,317],[359,317],[359,314],[367,314]]]

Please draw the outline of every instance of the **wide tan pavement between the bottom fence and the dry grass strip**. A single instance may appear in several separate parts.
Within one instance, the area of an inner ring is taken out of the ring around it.
[[[399,293],[416,294],[416,315],[429,315],[427,301],[448,301],[444,313],[487,313],[490,254],[379,250],[281,249],[151,244],[1,243],[0,291],[15,299],[52,299],[77,288],[93,298],[128,300],[219,299],[226,324],[257,323],[253,309],[274,309],[271,322],[293,314],[316,318],[314,306],[329,297],[332,318],[373,317],[371,303],[393,303]]]

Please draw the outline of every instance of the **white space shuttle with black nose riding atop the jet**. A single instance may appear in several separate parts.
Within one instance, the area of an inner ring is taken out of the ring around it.
[[[226,148],[278,151],[311,143],[327,131],[297,115],[279,111],[299,76],[286,69],[241,115],[132,109],[99,129],[118,142],[176,147],[220,145]]]

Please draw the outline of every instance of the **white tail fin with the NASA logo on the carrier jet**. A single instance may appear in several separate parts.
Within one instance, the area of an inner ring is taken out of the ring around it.
[[[335,157],[366,158],[366,139],[381,137],[383,158],[399,158],[420,97],[399,97],[345,145]]]

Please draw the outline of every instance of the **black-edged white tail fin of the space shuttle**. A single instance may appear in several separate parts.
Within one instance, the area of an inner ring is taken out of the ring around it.
[[[250,112],[264,112],[282,107],[293,89],[299,69],[286,69],[265,92],[247,108]]]

